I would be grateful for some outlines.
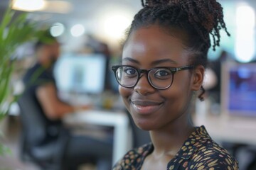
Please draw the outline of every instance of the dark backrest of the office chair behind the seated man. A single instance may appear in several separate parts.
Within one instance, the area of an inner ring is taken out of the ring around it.
[[[26,143],[37,145],[46,137],[46,121],[42,110],[29,91],[25,91],[18,98],[18,105],[21,110],[22,132]]]

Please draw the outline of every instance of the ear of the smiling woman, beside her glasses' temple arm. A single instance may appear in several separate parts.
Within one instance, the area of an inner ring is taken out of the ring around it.
[[[205,68],[202,65],[196,66],[196,68],[193,70],[193,77],[191,79],[191,90],[198,91],[201,89],[201,86],[203,84],[203,78],[205,74]]]

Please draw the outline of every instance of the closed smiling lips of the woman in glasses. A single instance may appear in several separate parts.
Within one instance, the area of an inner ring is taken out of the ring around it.
[[[141,115],[149,115],[151,113],[154,113],[155,111],[159,110],[161,108],[162,103],[158,102],[152,102],[152,101],[137,101],[133,102],[132,101],[132,108],[134,111]]]

